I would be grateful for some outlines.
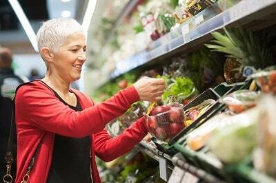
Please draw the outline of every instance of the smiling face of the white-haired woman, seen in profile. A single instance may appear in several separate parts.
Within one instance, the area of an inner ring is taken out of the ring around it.
[[[81,77],[81,67],[86,61],[86,37],[79,33],[68,36],[59,50],[54,53],[56,74],[71,83]]]

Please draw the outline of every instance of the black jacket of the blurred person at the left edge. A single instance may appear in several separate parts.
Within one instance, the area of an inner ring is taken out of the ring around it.
[[[0,175],[6,173],[6,162],[4,155],[8,146],[8,137],[10,133],[10,118],[12,114],[12,98],[14,97],[16,88],[23,83],[23,80],[16,76],[12,69],[0,68]],[[16,130],[14,128],[14,137]],[[16,140],[14,138],[13,152],[16,152]],[[16,154],[14,153],[14,157]],[[15,165],[15,164],[14,164]],[[15,171],[15,166],[12,168],[12,173]]]

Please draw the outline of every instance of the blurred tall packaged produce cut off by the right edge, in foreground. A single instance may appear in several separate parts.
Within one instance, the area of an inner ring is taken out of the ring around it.
[[[255,168],[276,178],[276,98],[264,96],[258,122],[258,147],[254,153]]]

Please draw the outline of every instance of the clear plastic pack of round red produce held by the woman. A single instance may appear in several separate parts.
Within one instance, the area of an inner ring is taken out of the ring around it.
[[[161,141],[171,140],[186,126],[183,105],[179,103],[155,107],[146,116],[146,121],[148,131]]]

